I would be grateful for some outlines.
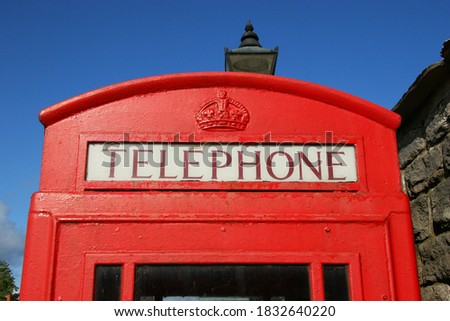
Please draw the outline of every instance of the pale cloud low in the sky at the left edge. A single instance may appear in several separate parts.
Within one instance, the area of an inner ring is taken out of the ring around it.
[[[25,233],[9,219],[9,212],[5,203],[0,201],[0,260],[8,262],[16,285],[20,286]]]

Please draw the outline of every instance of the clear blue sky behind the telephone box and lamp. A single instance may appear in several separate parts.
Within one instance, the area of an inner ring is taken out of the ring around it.
[[[20,281],[43,126],[59,101],[135,78],[223,71],[250,19],[276,74],[391,109],[441,59],[450,1],[0,0],[0,259]]]

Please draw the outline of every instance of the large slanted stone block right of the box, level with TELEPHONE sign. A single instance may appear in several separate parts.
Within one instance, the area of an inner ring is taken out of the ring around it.
[[[441,145],[418,156],[404,170],[408,194],[413,197],[436,184],[444,176]]]

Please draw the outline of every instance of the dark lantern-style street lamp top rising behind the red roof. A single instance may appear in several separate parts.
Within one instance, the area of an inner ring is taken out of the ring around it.
[[[245,26],[239,48],[233,50],[225,48],[225,71],[274,75],[277,56],[278,47],[274,50],[263,48],[249,21]]]

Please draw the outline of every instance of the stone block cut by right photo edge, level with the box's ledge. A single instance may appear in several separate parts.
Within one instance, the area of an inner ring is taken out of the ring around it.
[[[450,230],[450,177],[431,190],[430,200],[436,232]]]

